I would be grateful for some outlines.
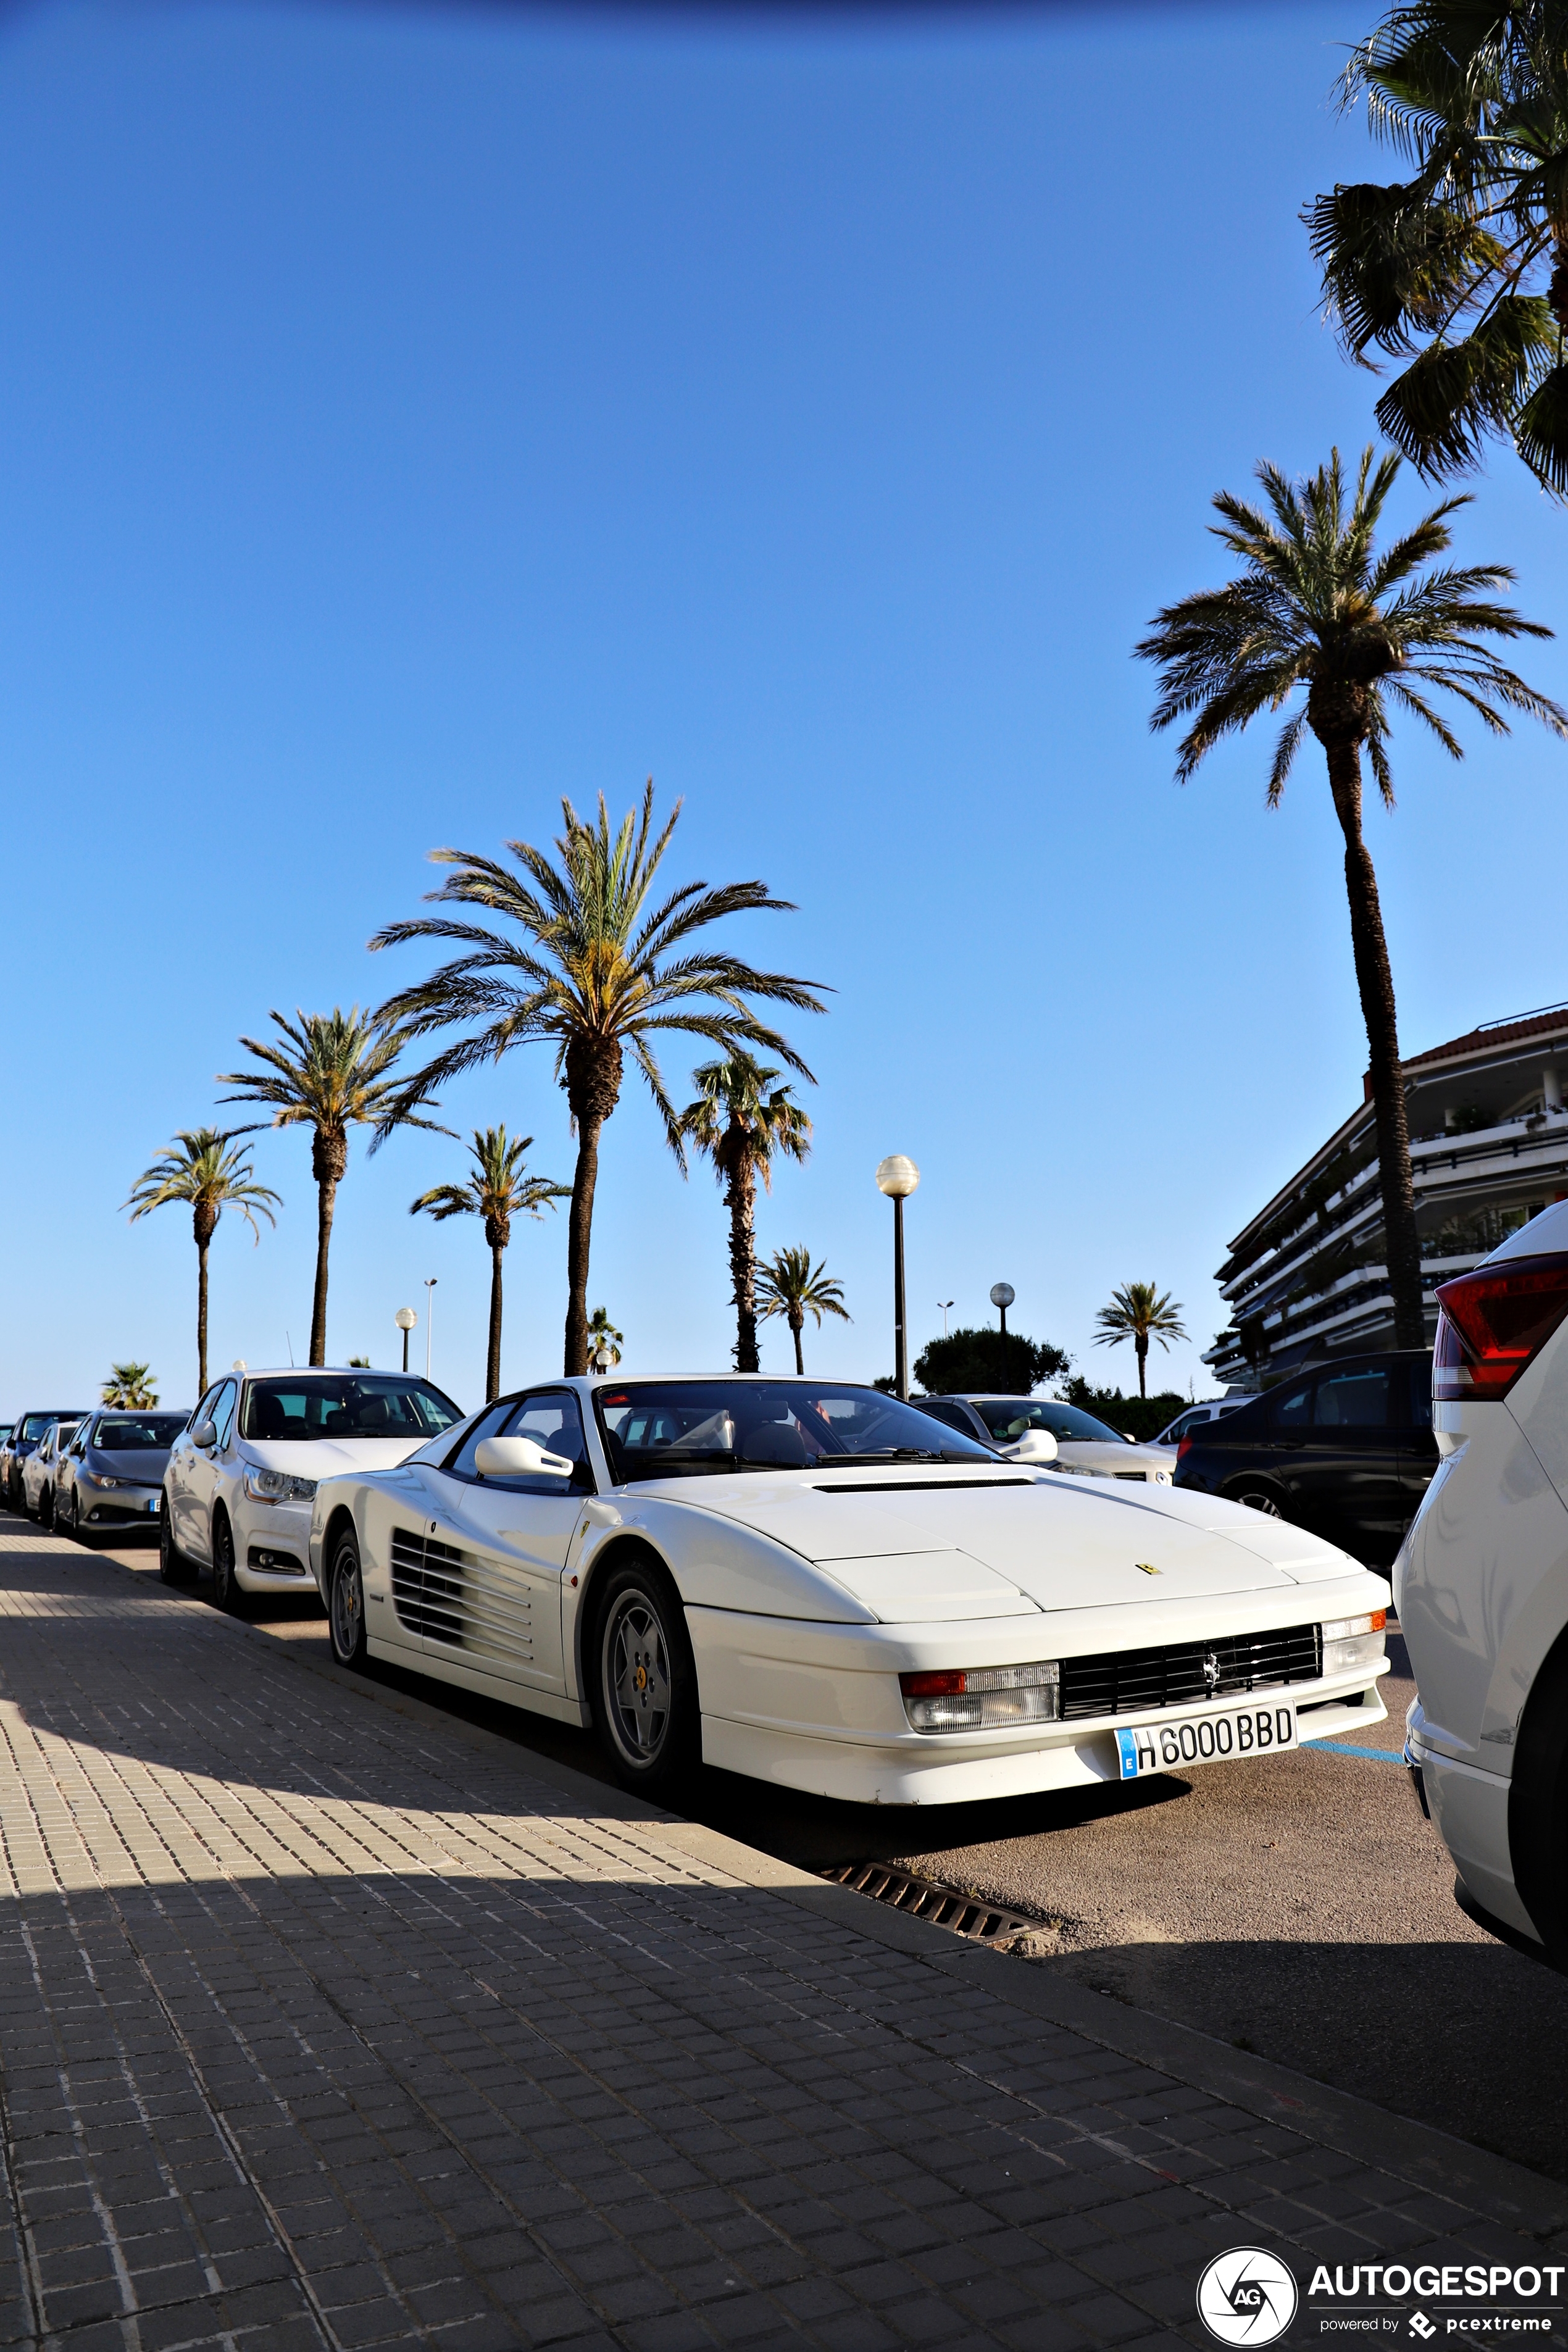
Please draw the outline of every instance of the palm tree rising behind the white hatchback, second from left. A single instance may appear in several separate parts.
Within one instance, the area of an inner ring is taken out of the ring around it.
[[[226,1094],[226,1103],[270,1103],[268,1127],[310,1127],[310,1174],[315,1176],[315,1294],[310,1301],[310,1362],[327,1362],[327,1251],[331,1249],[331,1218],[336,1214],[339,1185],[348,1169],[348,1129],[374,1127],[376,1143],[393,1127],[425,1127],[435,1134],[433,1120],[414,1112],[428,1101],[421,1087],[400,1089],[393,1077],[404,1040],[378,1014],[362,1014],[357,1004],[343,1011],[334,1004],[329,1014],[301,1014],[284,1021],[270,1016],[284,1035],[284,1044],[263,1044],[242,1037],[240,1044],[254,1054],[261,1070],[221,1070],[221,1087],[237,1087]],[[235,1134],[254,1134],[237,1127]]]

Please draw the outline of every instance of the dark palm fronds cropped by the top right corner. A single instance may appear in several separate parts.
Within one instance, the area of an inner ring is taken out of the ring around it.
[[[1425,475],[1474,468],[1490,435],[1568,494],[1568,40],[1561,0],[1394,7],[1349,56],[1410,179],[1338,186],[1307,214],[1328,313],[1361,365],[1410,360],[1378,402]]]

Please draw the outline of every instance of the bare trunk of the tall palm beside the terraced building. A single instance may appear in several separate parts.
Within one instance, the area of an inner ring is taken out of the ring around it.
[[[1406,1120],[1403,1070],[1399,1065],[1399,1021],[1394,1014],[1394,974],[1382,936],[1378,875],[1361,840],[1361,750],[1356,743],[1328,743],[1328,788],[1333,811],[1345,835],[1345,894],[1349,898],[1349,941],[1356,957],[1356,988],[1371,1054],[1373,1110],[1378,1127],[1378,1185],[1382,1192],[1382,1232],[1394,1298],[1394,1345],[1425,1348],[1420,1237],[1415,1232],[1415,1188],[1410,1183],[1410,1127]]]

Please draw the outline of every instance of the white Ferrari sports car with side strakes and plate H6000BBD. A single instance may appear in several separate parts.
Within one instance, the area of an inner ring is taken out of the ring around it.
[[[1382,1719],[1387,1585],[1237,1503],[999,1461],[872,1388],[541,1381],[322,1479],[310,1566],[367,1656],[689,1759],[945,1804]]]

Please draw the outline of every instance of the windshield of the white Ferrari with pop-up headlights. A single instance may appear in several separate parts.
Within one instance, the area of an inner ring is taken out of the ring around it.
[[[595,1406],[618,1486],[726,1470],[997,1458],[898,1397],[823,1381],[635,1381],[597,1388]]]

